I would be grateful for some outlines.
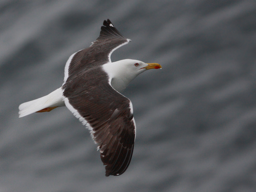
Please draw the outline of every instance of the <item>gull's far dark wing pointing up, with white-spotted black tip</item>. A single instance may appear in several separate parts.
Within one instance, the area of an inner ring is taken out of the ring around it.
[[[92,45],[71,55],[65,66],[64,83],[69,76],[81,70],[111,62],[110,56],[117,48],[128,44],[131,40],[125,38],[108,19],[104,20],[100,36]]]

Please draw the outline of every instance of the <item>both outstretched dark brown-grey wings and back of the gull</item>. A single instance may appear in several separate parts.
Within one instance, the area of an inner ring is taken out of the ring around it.
[[[130,40],[110,20],[103,25],[97,40],[67,62],[62,89],[68,109],[91,130],[109,176],[124,173],[130,164],[136,127],[131,101],[113,89],[101,68],[111,62],[114,50]]]

